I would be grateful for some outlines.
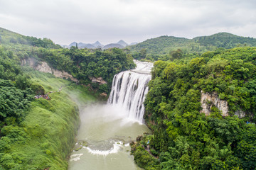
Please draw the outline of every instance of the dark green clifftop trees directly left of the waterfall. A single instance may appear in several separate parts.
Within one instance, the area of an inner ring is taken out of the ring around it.
[[[118,48],[104,51],[76,47],[60,50],[39,48],[34,54],[48,62],[51,67],[72,74],[80,84],[92,84],[91,77],[102,77],[108,86],[93,84],[95,89],[102,92],[110,91],[114,74],[135,67],[132,56]]]

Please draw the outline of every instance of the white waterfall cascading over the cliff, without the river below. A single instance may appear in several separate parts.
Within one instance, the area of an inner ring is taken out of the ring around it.
[[[149,90],[152,63],[139,62],[136,69],[114,75],[112,90],[107,103],[122,108],[124,116],[143,123],[144,100]]]

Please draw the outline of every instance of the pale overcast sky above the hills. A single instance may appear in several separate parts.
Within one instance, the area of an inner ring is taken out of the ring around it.
[[[219,32],[256,38],[256,0],[0,0],[0,27],[60,45]]]

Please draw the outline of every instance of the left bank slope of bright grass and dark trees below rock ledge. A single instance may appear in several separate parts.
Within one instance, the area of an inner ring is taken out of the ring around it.
[[[84,86],[22,69],[9,51],[0,54],[0,169],[68,169],[79,125],[74,97],[95,97]],[[46,93],[50,100],[34,99]]]

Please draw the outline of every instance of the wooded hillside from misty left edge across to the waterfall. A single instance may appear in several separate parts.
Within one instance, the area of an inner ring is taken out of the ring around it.
[[[26,37],[3,28],[0,28],[0,45],[17,64],[29,57],[35,58],[37,64],[46,61],[53,69],[68,72],[80,84],[90,84],[101,92],[110,91],[114,74],[135,67],[132,56],[118,48],[104,51],[77,47],[63,49],[48,38]],[[92,77],[102,77],[107,84],[92,83]]]

